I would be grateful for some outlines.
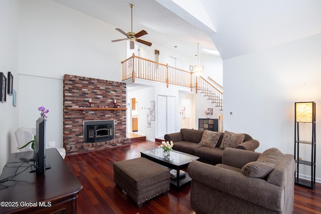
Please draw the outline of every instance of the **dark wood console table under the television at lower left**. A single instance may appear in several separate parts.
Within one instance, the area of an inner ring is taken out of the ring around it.
[[[17,173],[26,170],[0,185],[0,213],[76,213],[82,185],[57,149],[46,149],[51,169],[44,174],[29,172],[28,160],[32,157],[33,151],[10,155],[0,180],[15,175],[19,165]]]

